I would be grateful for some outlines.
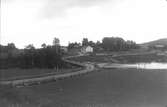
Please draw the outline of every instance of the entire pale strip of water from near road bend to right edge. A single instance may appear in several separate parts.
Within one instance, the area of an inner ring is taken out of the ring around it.
[[[167,69],[167,63],[99,64],[102,68]]]

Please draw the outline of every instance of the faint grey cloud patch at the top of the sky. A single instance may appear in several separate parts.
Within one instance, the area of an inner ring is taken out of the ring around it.
[[[88,8],[108,1],[111,0],[48,0],[41,13],[45,18],[61,17],[73,7]]]

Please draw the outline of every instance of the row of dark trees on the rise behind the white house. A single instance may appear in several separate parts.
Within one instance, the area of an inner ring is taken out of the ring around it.
[[[83,38],[81,43],[69,43],[68,49],[73,49],[76,47],[82,46],[92,46],[94,51],[125,51],[130,49],[139,48],[136,42],[127,40],[125,41],[123,38],[120,37],[104,37],[102,42],[97,41],[89,41],[88,38]]]

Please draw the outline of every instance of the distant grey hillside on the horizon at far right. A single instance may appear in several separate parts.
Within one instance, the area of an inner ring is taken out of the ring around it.
[[[155,41],[143,43],[143,44],[141,44],[141,45],[145,45],[145,46],[167,45],[167,38],[158,39],[158,40],[155,40]]]

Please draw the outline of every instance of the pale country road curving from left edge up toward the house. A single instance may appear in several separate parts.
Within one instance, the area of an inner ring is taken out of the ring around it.
[[[73,57],[77,57],[77,56],[73,56]],[[55,75],[33,77],[33,78],[29,77],[26,79],[17,79],[17,80],[2,80],[2,81],[0,81],[0,84],[12,85],[12,86],[18,86],[18,85],[28,86],[28,85],[31,85],[33,83],[40,84],[43,81],[53,81],[53,80],[67,78],[67,77],[73,77],[73,76],[77,76],[77,75],[86,74],[86,73],[91,72],[95,69],[94,65],[91,63],[82,64],[82,63],[78,63],[78,62],[74,62],[74,61],[69,61],[69,60],[67,60],[67,58],[63,58],[63,60],[67,63],[82,66],[84,69],[76,71],[76,72],[70,72],[70,73],[64,73],[64,74],[55,74]]]

